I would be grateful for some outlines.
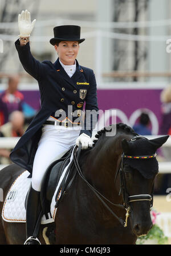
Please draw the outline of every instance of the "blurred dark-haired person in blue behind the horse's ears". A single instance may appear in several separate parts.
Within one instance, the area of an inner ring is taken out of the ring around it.
[[[148,128],[150,119],[147,113],[141,113],[139,123],[133,126],[136,133],[140,135],[152,135],[151,130]]]

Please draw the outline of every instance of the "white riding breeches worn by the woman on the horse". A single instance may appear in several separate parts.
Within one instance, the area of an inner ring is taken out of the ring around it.
[[[73,145],[80,134],[80,127],[59,127],[44,125],[32,167],[32,188],[40,191],[47,167],[62,157]]]

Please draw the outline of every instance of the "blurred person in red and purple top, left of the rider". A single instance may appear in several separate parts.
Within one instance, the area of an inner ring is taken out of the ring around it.
[[[9,115],[13,111],[22,111],[23,94],[18,91],[19,76],[11,76],[8,88],[0,94],[0,125],[9,121]]]

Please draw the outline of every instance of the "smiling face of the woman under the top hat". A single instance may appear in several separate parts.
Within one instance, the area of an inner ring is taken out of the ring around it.
[[[62,41],[55,45],[55,50],[64,65],[74,65],[79,51],[79,43],[77,41]]]

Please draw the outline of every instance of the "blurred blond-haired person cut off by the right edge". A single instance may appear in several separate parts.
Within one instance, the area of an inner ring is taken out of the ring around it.
[[[162,90],[161,100],[161,124],[160,134],[171,134],[171,85]]]

